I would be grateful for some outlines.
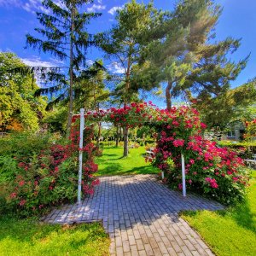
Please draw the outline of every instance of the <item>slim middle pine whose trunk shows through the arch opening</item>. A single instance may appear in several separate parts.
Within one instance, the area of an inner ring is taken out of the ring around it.
[[[108,57],[118,63],[124,70],[122,87],[124,106],[131,102],[133,67],[137,64],[140,51],[147,39],[148,31],[154,26],[158,12],[153,3],[148,5],[132,0],[126,3],[124,9],[117,12],[117,24],[108,31],[98,35],[101,48]],[[137,88],[138,89],[138,88]],[[128,128],[124,127],[124,156],[128,155]]]

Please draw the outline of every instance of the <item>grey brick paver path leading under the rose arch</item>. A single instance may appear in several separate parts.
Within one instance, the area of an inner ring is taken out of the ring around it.
[[[152,175],[101,177],[101,185],[81,206],[54,210],[44,220],[72,223],[102,220],[111,255],[213,255],[177,212],[223,207],[195,195],[186,198]]]

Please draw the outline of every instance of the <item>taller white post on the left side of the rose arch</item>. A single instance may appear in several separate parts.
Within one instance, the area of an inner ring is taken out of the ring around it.
[[[78,204],[81,204],[82,190],[82,167],[83,167],[83,141],[84,141],[84,108],[80,109],[80,139],[79,139],[79,188],[78,188]]]

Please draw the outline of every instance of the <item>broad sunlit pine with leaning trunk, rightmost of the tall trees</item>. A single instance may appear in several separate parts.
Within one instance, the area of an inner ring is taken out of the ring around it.
[[[230,88],[245,67],[247,58],[238,63],[226,56],[236,51],[239,40],[227,38],[213,42],[213,29],[221,8],[213,0],[180,0],[154,40],[144,49],[142,61],[166,83],[166,107],[172,98],[190,93],[203,94]]]

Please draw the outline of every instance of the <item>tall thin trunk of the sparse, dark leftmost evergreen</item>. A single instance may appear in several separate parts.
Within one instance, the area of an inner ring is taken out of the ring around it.
[[[70,134],[72,115],[73,115],[73,30],[74,30],[74,8],[72,6],[71,10],[71,33],[70,33],[70,63],[69,63],[69,107],[68,107],[68,117],[67,117],[67,138]]]

